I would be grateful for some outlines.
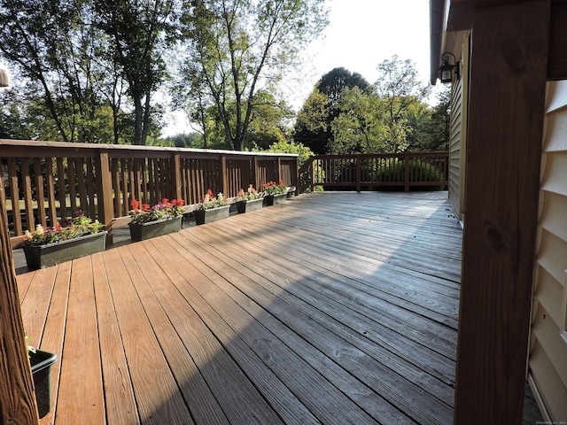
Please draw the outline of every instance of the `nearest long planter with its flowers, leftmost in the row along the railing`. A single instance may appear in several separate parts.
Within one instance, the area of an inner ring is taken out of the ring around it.
[[[91,220],[80,211],[74,219],[56,221],[52,228],[35,226],[35,231],[26,230],[23,249],[27,267],[38,269],[78,259],[85,255],[105,251],[105,225]]]

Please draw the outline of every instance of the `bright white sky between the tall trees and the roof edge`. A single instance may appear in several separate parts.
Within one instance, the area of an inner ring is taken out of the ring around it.
[[[295,74],[286,83],[286,101],[296,112],[322,75],[340,66],[373,83],[377,66],[398,55],[414,61],[420,79],[429,81],[428,0],[328,0],[328,7],[329,27],[306,51],[299,81]],[[435,103],[434,96],[430,102]],[[183,115],[170,117],[164,135],[185,131],[179,131],[187,125]]]

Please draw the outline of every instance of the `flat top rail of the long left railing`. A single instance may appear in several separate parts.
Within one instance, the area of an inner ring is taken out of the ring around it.
[[[130,144],[107,144],[107,143],[65,143],[65,142],[45,142],[30,140],[0,139],[2,146],[13,148],[53,148],[53,149],[73,149],[73,150],[107,150],[107,151],[155,151],[155,152],[179,152],[209,155],[230,155],[238,157],[266,157],[266,158],[297,158],[296,153],[274,153],[274,152],[250,152],[250,151],[225,151],[215,149],[191,149],[191,148],[172,148],[162,146],[140,146]]]

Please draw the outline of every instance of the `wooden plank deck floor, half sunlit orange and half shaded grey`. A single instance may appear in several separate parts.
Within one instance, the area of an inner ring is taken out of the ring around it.
[[[447,192],[325,192],[19,274],[41,423],[452,423],[461,244]]]

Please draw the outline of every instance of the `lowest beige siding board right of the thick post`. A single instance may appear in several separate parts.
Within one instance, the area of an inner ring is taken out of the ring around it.
[[[567,418],[567,389],[539,343],[534,344],[530,355],[533,381],[552,419]]]

